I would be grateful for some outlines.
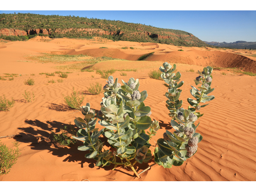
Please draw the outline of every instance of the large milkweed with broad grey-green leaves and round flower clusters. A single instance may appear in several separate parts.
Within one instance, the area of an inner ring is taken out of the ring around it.
[[[80,130],[77,136],[73,136],[83,142],[82,146],[78,146],[78,150],[88,151],[85,157],[96,160],[96,166],[114,164],[114,169],[121,165],[129,166],[138,178],[140,176],[134,164],[148,163],[153,160],[152,155],[155,164],[164,168],[180,166],[193,156],[197,151],[198,142],[202,140],[202,136],[196,133],[200,123],[195,125],[195,122],[203,115],[198,111],[208,105],[201,103],[214,99],[214,96],[207,95],[214,90],[210,87],[212,67],[198,71],[199,76],[194,81],[200,87],[191,86],[190,93],[194,99],[188,98],[188,109],[181,108],[182,100],[179,98],[182,90],[179,88],[184,82],[180,81],[180,72],[175,74],[174,70],[176,64],[172,68],[167,62],[160,67],[161,78],[166,83],[164,86],[168,88],[165,94],[168,98],[166,107],[170,111],[170,124],[175,131],[166,130],[163,138],[157,140],[154,151],[150,150],[150,139],[156,135],[160,126],[157,120],[152,121],[151,108],[144,104],[148,97],[147,91],[139,91],[138,79],[130,78],[128,82],[122,80],[121,85],[118,78],[114,80],[113,76],[108,77],[107,84],[103,87],[104,97],[97,114],[90,108],[89,103],[80,107],[84,118],[75,118],[74,122]],[[95,128],[97,122],[104,128]],[[110,149],[104,148],[102,136],[106,137]]]

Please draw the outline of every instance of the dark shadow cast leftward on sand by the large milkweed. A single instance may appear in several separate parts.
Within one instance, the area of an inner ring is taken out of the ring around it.
[[[88,163],[89,168],[95,167],[96,160],[85,158],[85,155],[89,153],[89,151],[80,151],[77,149],[78,146],[82,145],[82,142],[78,141],[78,143],[72,146],[61,146],[57,142],[53,141],[51,131],[58,133],[60,132],[60,128],[68,126],[69,124],[64,124],[57,121],[41,122],[39,120],[27,119],[24,122],[30,126],[18,128],[18,130],[21,132],[18,133],[18,136],[14,137],[16,141],[29,143],[28,146],[30,146],[32,150],[48,150],[54,156],[63,157],[69,155],[63,160],[63,162],[78,162],[78,164],[81,164],[81,168],[84,167],[84,163]],[[75,128],[76,132],[78,130],[79,128]],[[100,140],[108,144],[107,138],[100,137]],[[150,162],[151,161],[152,160],[150,160]],[[148,163],[140,164],[139,167],[138,164],[134,165],[134,168],[137,171],[144,170],[147,167]],[[97,169],[100,168],[101,167],[98,167]],[[106,171],[112,170],[114,168],[114,164],[110,164],[110,166],[104,166],[103,168]],[[121,168],[124,168],[124,171],[118,170],[118,167],[115,169],[115,171],[122,172],[123,174],[129,176],[134,176],[133,171],[129,169],[130,167],[122,166]]]

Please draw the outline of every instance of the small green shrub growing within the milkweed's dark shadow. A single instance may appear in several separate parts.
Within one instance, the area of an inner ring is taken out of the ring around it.
[[[68,129],[67,126],[64,126],[64,128],[60,128],[60,131],[62,132],[61,134],[51,132],[55,142],[66,146],[76,144],[77,140],[72,138],[72,136],[76,136],[76,132],[72,125],[70,125],[70,129]]]

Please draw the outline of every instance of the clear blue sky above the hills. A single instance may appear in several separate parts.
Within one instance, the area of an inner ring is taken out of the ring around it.
[[[121,20],[178,29],[203,41],[256,42],[256,11],[0,11]]]

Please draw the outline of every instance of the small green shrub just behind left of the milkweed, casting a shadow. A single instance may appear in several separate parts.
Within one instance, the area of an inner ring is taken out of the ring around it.
[[[64,95],[63,95],[64,96]],[[64,96],[64,102],[73,109],[80,110],[80,106],[83,103],[84,100],[84,94],[82,94],[81,97],[79,97],[79,92],[76,92],[73,87],[73,92],[71,96]]]

